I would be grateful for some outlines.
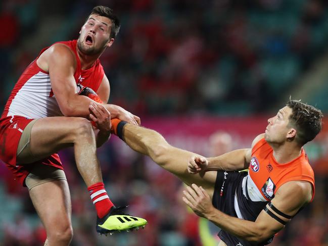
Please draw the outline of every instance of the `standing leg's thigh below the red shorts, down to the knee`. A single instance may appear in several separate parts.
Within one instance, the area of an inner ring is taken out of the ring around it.
[[[42,183],[31,188],[29,193],[48,236],[72,230],[71,198],[66,180]]]

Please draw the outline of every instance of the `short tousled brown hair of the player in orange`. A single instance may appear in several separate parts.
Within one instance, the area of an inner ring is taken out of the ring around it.
[[[292,109],[289,121],[297,130],[295,140],[303,146],[321,131],[323,114],[319,109],[298,100],[290,100],[286,106]]]

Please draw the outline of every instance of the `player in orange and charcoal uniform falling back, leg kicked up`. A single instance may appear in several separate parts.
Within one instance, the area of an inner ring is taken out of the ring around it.
[[[169,145],[158,132],[112,120],[133,150],[189,185],[183,201],[222,230],[219,245],[266,245],[313,200],[314,174],[303,145],[321,130],[320,110],[289,101],[249,149],[205,158]],[[238,172],[248,168],[248,172]]]

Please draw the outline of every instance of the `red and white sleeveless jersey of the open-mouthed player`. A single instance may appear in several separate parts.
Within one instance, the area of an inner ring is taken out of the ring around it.
[[[77,66],[74,79],[76,84],[81,84],[97,91],[104,77],[104,69],[99,59],[91,68],[81,70],[81,62],[76,51],[77,40],[58,43],[69,46],[75,54]],[[44,48],[39,56],[48,48],[49,47]],[[9,96],[1,118],[14,115],[30,119],[63,116],[52,91],[49,73],[37,66],[37,58],[25,69],[18,79]],[[78,88],[79,87],[77,87],[77,91]]]

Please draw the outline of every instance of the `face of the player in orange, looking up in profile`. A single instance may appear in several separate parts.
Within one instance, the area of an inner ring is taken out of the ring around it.
[[[268,119],[268,126],[264,135],[268,143],[283,143],[288,137],[293,137],[296,134],[296,130],[289,125],[291,114],[292,109],[285,106],[274,117]]]

